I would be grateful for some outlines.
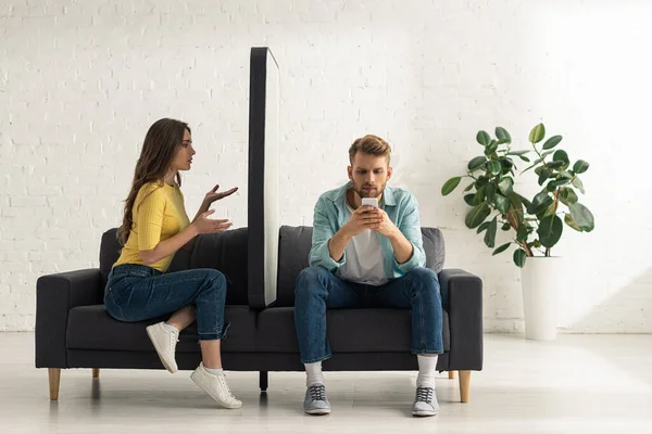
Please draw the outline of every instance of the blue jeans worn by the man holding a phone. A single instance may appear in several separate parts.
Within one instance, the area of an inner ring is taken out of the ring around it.
[[[294,291],[294,324],[302,363],[330,358],[326,309],[354,307],[412,309],[412,353],[443,353],[441,295],[435,271],[419,267],[373,286],[344,281],[323,267],[310,267],[299,273]]]

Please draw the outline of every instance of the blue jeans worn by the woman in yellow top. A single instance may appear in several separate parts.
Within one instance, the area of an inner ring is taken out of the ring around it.
[[[146,265],[113,267],[104,289],[109,314],[127,322],[143,321],[195,305],[200,341],[226,334],[224,303],[226,277],[214,269],[192,269],[164,275]]]

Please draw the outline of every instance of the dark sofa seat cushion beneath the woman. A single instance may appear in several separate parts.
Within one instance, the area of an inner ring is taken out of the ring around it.
[[[226,339],[222,343],[223,352],[253,352],[255,335],[255,312],[247,306],[226,306],[226,320],[230,322]],[[113,319],[104,305],[78,306],[70,310],[66,347],[68,349],[113,349],[125,352],[152,352],[153,346],[145,331],[165,318],[148,321],[123,322]],[[199,352],[197,323],[179,335],[177,352]]]

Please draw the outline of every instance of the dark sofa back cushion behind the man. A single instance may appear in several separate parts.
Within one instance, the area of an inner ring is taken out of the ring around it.
[[[422,228],[426,267],[441,271],[446,257],[443,234],[437,228]],[[278,244],[278,279],[276,306],[294,305],[294,282],[299,272],[308,268],[308,255],[312,246],[312,227],[284,226]]]

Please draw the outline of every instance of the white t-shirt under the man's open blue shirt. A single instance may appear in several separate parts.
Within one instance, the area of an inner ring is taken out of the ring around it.
[[[347,203],[349,218],[353,208]],[[387,283],[385,267],[383,266],[383,250],[378,242],[376,231],[365,229],[353,237],[347,248],[347,261],[339,269],[340,279],[355,283],[365,283],[379,286]]]

